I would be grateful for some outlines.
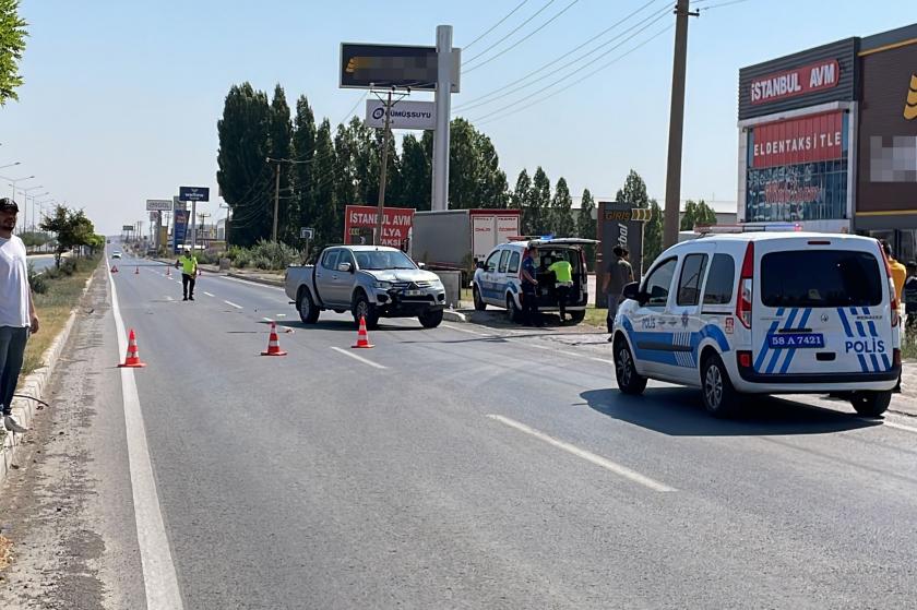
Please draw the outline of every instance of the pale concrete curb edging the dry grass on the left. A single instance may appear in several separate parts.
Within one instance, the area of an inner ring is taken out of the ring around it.
[[[97,271],[97,270],[96,270]],[[95,271],[86,279],[86,285],[83,287],[83,292],[80,295],[82,299],[95,278]],[[79,307],[79,306],[78,306]],[[70,332],[73,330],[73,324],[76,322],[76,307],[70,310],[70,316],[63,328],[51,342],[50,347],[41,355],[41,361],[47,362],[40,369],[32,371],[25,379],[21,380],[16,385],[16,394],[24,394],[27,396],[35,396],[36,398],[45,398],[45,390],[51,380],[51,374],[55,372],[60,352],[63,351],[63,346],[70,338]],[[35,400],[28,398],[13,398],[13,417],[16,418],[26,428],[32,428],[32,422],[35,419]],[[23,443],[23,435],[5,431],[2,445],[0,446],[0,487],[7,480],[7,475],[15,463],[16,447]]]

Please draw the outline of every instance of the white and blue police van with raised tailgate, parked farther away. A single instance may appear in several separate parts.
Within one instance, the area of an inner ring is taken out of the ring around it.
[[[526,248],[537,248],[535,270],[539,286],[537,289],[538,311],[559,311],[557,292],[549,282],[541,282],[548,263],[564,260],[573,268],[573,287],[568,297],[567,312],[573,323],[580,323],[586,315],[590,301],[586,255],[583,247],[598,243],[594,239],[572,237],[537,238],[516,240],[497,246],[487,258],[478,263],[472,279],[472,296],[475,309],[484,311],[487,306],[502,307],[512,322],[522,321],[522,278],[520,270]]]

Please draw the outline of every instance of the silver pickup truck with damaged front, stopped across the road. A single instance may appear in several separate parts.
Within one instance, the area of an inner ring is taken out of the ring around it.
[[[372,330],[380,318],[418,318],[425,328],[442,322],[445,289],[440,278],[419,268],[404,252],[382,246],[334,246],[318,264],[289,266],[286,294],[305,324],[319,313],[350,311]]]

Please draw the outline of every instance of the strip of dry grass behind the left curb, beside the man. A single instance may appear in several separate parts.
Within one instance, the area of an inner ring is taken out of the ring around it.
[[[25,346],[22,376],[44,366],[41,355],[63,330],[70,310],[79,304],[86,279],[95,271],[98,261],[98,258],[80,261],[76,273],[49,279],[47,291],[35,295],[35,309],[41,327],[38,334],[29,337]]]

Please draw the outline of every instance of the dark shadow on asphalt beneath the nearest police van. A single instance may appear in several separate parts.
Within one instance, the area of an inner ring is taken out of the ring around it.
[[[716,419],[704,409],[699,392],[684,387],[648,387],[643,396],[590,390],[580,396],[603,415],[671,436],[826,434],[882,423],[769,396],[749,396],[735,418]]]

